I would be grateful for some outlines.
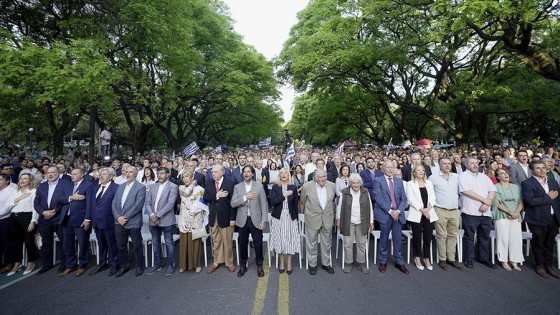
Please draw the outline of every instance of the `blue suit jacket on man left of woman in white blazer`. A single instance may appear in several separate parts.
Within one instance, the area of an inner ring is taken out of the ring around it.
[[[400,211],[399,222],[405,224],[406,217],[404,208],[406,208],[406,192],[404,182],[397,177],[393,177],[393,185],[395,187],[395,201],[397,209]],[[373,194],[375,197],[375,205],[373,206],[373,217],[380,223],[387,223],[392,220],[389,215],[391,209],[391,195],[389,185],[385,176],[376,177],[373,182]]]

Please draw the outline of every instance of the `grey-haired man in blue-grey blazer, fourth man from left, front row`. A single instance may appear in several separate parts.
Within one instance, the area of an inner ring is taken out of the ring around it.
[[[113,216],[115,217],[115,237],[119,249],[120,269],[115,277],[122,277],[130,270],[128,260],[128,238],[132,239],[136,276],[144,272],[144,252],[142,250],[142,208],[146,199],[146,187],[136,181],[138,170],[134,166],[123,169],[126,182],[119,186],[113,198]]]

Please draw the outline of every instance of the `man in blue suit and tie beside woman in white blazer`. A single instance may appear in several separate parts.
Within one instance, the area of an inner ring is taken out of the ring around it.
[[[404,215],[404,208],[406,207],[404,183],[400,178],[393,176],[395,166],[392,161],[383,162],[382,170],[384,175],[376,177],[373,182],[373,195],[375,198],[373,211],[375,220],[379,222],[381,230],[379,271],[385,272],[387,270],[389,233],[392,231],[395,267],[402,273],[407,274],[408,270],[404,265],[400,238],[402,224],[406,222]]]

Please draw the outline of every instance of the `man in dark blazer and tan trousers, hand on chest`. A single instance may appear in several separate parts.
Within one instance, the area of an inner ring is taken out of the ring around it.
[[[204,201],[208,203],[210,214],[209,225],[212,227],[214,240],[214,263],[208,267],[208,273],[218,269],[224,263],[230,272],[235,271],[233,265],[232,237],[235,225],[236,209],[231,207],[234,183],[224,176],[221,165],[212,167],[212,178],[206,181]]]

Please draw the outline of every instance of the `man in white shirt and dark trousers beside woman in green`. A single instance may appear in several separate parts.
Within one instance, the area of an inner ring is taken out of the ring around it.
[[[465,230],[463,237],[465,267],[473,268],[476,235],[480,263],[496,269],[490,257],[490,231],[492,230],[490,209],[496,195],[496,187],[488,176],[478,172],[478,163],[478,159],[468,158],[467,171],[459,175],[461,216]]]

